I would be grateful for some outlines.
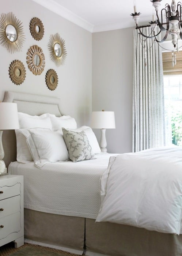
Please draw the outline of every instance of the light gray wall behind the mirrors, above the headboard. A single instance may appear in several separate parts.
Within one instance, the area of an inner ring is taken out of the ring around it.
[[[75,117],[79,126],[88,125],[92,111],[92,34],[31,0],[1,0],[0,13],[8,12],[13,12],[23,23],[26,41],[22,51],[13,54],[0,45],[0,100],[4,91],[58,97],[61,98],[62,113]],[[45,33],[40,41],[30,33],[29,24],[33,17],[41,19],[44,25]],[[48,50],[49,37],[56,33],[65,40],[67,49],[65,64],[60,67],[51,61]],[[33,75],[26,63],[27,50],[34,44],[45,54],[45,69],[38,76]],[[26,79],[21,85],[15,85],[9,77],[8,69],[15,59],[26,67]],[[54,91],[50,91],[45,83],[50,68],[58,75],[58,86]]]

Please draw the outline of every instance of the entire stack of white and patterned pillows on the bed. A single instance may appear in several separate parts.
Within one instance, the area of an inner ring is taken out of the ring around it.
[[[15,130],[18,162],[34,161],[42,168],[49,162],[95,159],[95,154],[101,153],[92,129],[77,128],[73,117],[19,112],[18,118],[20,129]]]

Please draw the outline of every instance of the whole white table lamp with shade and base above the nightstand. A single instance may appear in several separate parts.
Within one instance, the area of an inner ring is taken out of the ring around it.
[[[4,172],[4,148],[2,142],[3,130],[19,129],[17,104],[0,102],[0,174]]]

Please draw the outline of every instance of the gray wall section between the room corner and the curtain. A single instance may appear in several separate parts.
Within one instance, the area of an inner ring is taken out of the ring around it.
[[[132,151],[132,76],[133,28],[92,34],[92,110],[115,112],[116,129],[106,130],[110,153]]]

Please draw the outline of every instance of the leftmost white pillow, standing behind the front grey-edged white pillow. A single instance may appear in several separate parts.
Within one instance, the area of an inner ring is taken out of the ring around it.
[[[33,161],[29,146],[27,145],[27,137],[30,136],[29,131],[44,131],[43,128],[17,129],[16,134],[16,160],[20,163]],[[48,129],[50,131],[50,129]]]

